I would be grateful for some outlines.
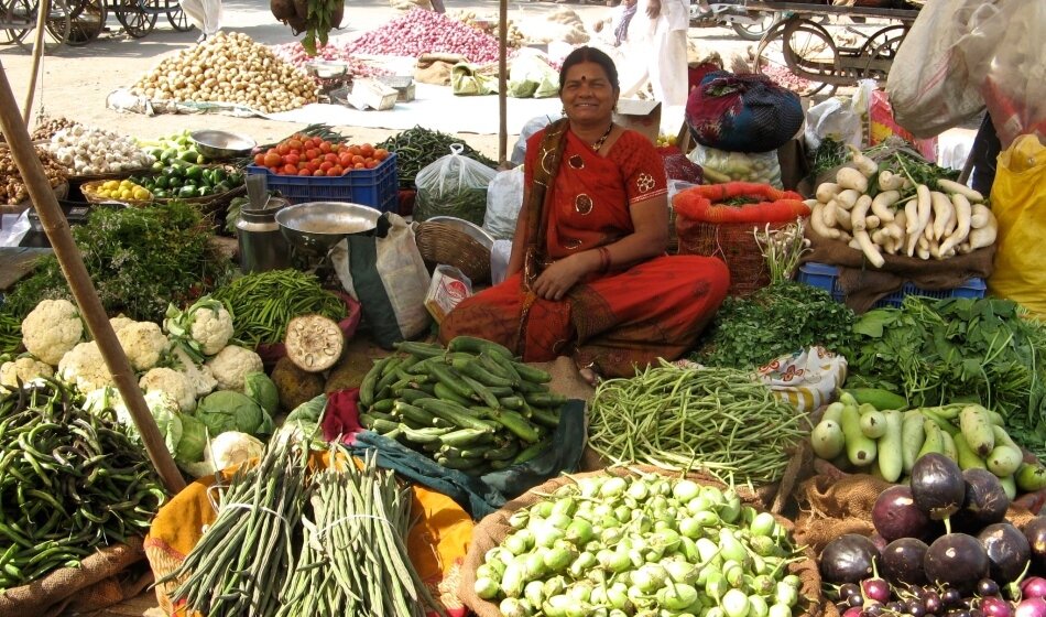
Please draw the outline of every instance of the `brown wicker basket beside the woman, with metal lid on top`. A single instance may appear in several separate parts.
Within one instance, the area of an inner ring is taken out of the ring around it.
[[[418,223],[414,237],[429,271],[439,264],[453,266],[473,285],[490,282],[493,240],[476,225],[450,217],[435,217]]]

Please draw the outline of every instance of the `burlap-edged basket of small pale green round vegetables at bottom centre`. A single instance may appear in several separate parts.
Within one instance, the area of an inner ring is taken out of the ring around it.
[[[658,526],[668,508],[676,508],[677,524]],[[736,526],[750,533],[739,538]],[[477,526],[458,596],[479,617],[582,615],[598,607],[697,615],[711,597],[726,616],[762,615],[774,605],[782,607],[771,615],[820,616],[817,564],[791,534],[787,519],[744,504],[715,480],[655,467],[562,476]],[[645,545],[630,550],[640,538]],[[593,551],[592,542],[603,548]],[[734,558],[753,564],[756,556],[772,574],[761,578],[716,567]],[[631,586],[615,581],[624,572]],[[734,575],[766,591],[730,589],[726,577]]]

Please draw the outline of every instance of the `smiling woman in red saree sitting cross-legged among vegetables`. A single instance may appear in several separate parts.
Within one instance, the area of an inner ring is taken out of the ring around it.
[[[525,361],[566,355],[587,377],[630,377],[678,358],[715,315],[727,267],[665,255],[664,163],[645,137],[613,123],[618,95],[602,52],[579,47],[564,59],[566,118],[527,140],[508,275],[447,315],[444,343],[467,334]]]

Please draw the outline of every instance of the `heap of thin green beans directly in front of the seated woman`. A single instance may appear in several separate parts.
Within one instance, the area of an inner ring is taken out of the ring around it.
[[[781,478],[808,432],[802,415],[751,372],[665,362],[600,383],[589,445],[614,463],[701,469],[733,484]]]

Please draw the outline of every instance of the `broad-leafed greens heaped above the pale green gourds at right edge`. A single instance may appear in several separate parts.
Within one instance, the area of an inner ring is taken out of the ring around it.
[[[848,385],[885,388],[913,407],[977,401],[1046,455],[1046,325],[1000,299],[907,296],[853,326]]]

